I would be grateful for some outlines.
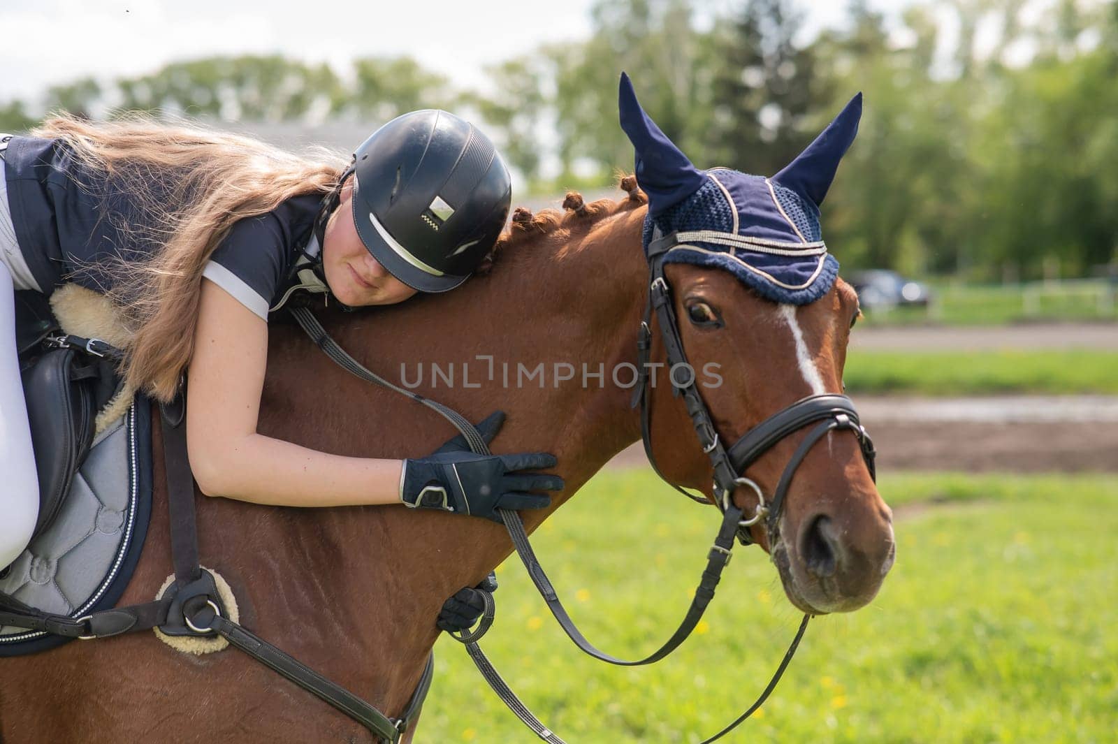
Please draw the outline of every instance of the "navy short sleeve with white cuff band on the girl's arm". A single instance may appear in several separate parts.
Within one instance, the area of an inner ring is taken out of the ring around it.
[[[268,307],[287,270],[287,245],[268,213],[240,220],[210,256],[202,276],[268,319]]]

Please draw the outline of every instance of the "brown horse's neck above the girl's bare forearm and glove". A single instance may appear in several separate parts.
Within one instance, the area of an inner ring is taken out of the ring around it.
[[[397,384],[474,421],[505,411],[495,451],[553,452],[565,478],[585,479],[639,436],[631,391],[615,379],[627,383],[632,370],[618,365],[636,361],[647,271],[642,213],[610,218],[556,250],[519,246],[446,296],[324,324]],[[297,332],[277,336],[262,407],[274,436],[352,456],[421,457],[454,433],[406,397],[333,366]],[[284,406],[269,406],[275,399]],[[305,416],[292,416],[292,401],[307,406]]]

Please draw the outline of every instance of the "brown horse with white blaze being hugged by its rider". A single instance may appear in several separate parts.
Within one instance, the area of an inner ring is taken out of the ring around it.
[[[645,211],[637,192],[565,216],[520,212],[491,270],[463,288],[401,306],[318,314],[342,346],[389,379],[401,370],[414,379],[419,364],[446,371],[453,363],[454,387],[443,378],[433,387],[425,375],[418,390],[473,420],[506,411],[494,451],[556,454],[567,487],[550,509],[524,514],[532,530],[641,436],[632,391],[615,384],[610,370],[636,361],[647,293]],[[858,314],[845,283],[792,307],[759,298],[717,269],[672,265],[667,277],[689,359],[695,368],[720,365],[723,384],[702,394],[723,441],[805,395],[842,390]],[[689,322],[707,312],[703,305],[722,316],[723,327]],[[657,341],[652,359],[663,355]],[[493,357],[494,382],[489,360],[479,356]],[[569,371],[553,374],[557,362],[572,365],[575,379],[559,381]],[[544,380],[518,384],[518,365],[540,363]],[[584,384],[584,364],[591,374],[604,365],[605,375]],[[619,376],[622,384],[631,378]],[[663,382],[652,400],[661,469],[710,496],[710,464],[682,404]],[[283,323],[272,328],[260,410],[260,432],[350,456],[421,456],[454,433],[437,414],[349,375]],[[765,493],[803,436],[787,437],[749,468]],[[151,600],[172,572],[158,427],[155,438],[151,528],[122,604]],[[748,492],[736,498],[752,509]],[[485,519],[391,506],[295,509],[200,495],[198,502],[201,562],[231,584],[240,622],[387,715],[400,713],[423,671],[443,601],[511,552],[504,530]],[[713,527],[713,509],[711,521]],[[891,517],[853,433],[831,432],[808,454],[779,534],[779,544],[768,545],[765,530],[754,528],[789,600],[805,612],[853,610],[878,592],[892,562]],[[231,649],[191,657],[135,633],[6,659],[2,669],[0,737],[8,744],[370,741],[359,724]]]

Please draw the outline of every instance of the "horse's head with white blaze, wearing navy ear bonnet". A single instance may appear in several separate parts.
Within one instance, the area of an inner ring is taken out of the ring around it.
[[[724,448],[735,465],[742,460],[743,470],[735,467],[733,474],[752,483],[740,481],[732,498],[747,516],[764,498],[769,514],[751,534],[769,550],[792,602],[814,613],[864,605],[893,562],[891,513],[863,456],[864,432],[856,418],[840,411],[794,426],[785,421],[749,461],[736,457],[749,447],[731,445],[748,445],[740,438],[780,425],[778,414],[786,417],[788,409],[840,400],[795,406],[843,391],[858,296],[837,278],[818,207],[860,115],[858,96],[773,178],[701,171],[641,109],[628,78],[622,78],[622,126],[648,197],[645,251],[653,275],[659,263],[671,286],[679,338],[721,441],[709,449],[717,458],[716,449]],[[665,316],[657,319],[663,326]],[[657,399],[673,406],[665,395]],[[675,439],[689,442],[690,452],[686,464],[673,458],[675,473],[709,492],[709,481],[695,481],[709,478],[711,461],[690,446],[689,435]],[[717,476],[717,462],[714,469]]]

